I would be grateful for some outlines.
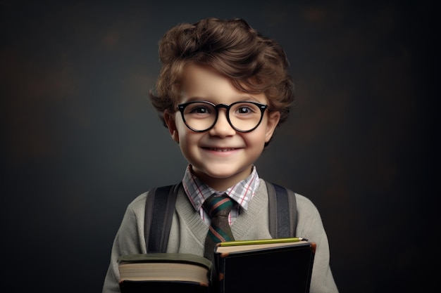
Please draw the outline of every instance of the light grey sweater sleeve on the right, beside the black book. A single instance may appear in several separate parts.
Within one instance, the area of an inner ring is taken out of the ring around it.
[[[296,194],[298,237],[316,243],[316,254],[311,276],[311,293],[337,293],[337,285],[330,270],[330,251],[321,215],[308,198]]]

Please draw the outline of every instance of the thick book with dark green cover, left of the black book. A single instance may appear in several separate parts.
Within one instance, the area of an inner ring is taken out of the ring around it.
[[[154,253],[120,256],[122,293],[209,293],[213,264],[195,254]]]

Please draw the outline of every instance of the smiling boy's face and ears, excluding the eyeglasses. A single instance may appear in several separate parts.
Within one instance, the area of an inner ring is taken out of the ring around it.
[[[237,101],[268,104],[263,93],[237,91],[229,79],[211,67],[199,65],[185,67],[178,103],[191,101],[209,101],[214,105],[230,105]],[[185,125],[179,111],[164,114],[170,134],[179,143],[194,174],[216,190],[225,190],[249,176],[252,165],[273,135],[279,117],[279,112],[268,114],[265,110],[259,126],[244,133],[233,129],[228,123],[226,109],[219,108],[216,124],[207,131],[196,132]]]

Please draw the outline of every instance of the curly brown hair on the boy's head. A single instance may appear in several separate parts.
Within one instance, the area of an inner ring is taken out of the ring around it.
[[[285,122],[294,101],[285,51],[275,40],[263,37],[240,18],[206,18],[171,27],[159,41],[161,72],[151,103],[163,120],[163,112],[176,111],[185,65],[209,65],[228,77],[237,90],[265,93],[268,110],[280,112]]]

